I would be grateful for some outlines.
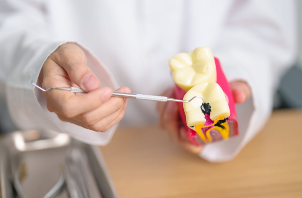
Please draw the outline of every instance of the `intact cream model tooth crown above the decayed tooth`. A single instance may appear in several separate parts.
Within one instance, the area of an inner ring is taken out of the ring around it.
[[[210,47],[198,47],[190,53],[179,53],[169,60],[176,85],[188,91],[203,82],[216,82],[216,66]]]

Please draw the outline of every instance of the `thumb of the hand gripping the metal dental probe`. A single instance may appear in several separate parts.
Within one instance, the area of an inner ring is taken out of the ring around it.
[[[78,45],[67,43],[60,46],[53,53],[53,59],[82,90],[89,92],[100,87],[98,78],[87,65],[85,53]]]

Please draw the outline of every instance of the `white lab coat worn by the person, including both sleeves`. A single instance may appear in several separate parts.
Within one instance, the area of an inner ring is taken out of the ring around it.
[[[63,122],[31,85],[41,84],[43,61],[57,46],[79,43],[101,85],[154,95],[173,86],[170,57],[210,46],[228,80],[252,88],[252,98],[237,106],[240,135],[200,153],[209,161],[229,160],[265,124],[280,75],[294,60],[294,7],[289,0],[0,0],[1,94],[21,129],[53,129],[106,145],[116,126],[100,133]],[[156,121],[155,107],[128,100],[124,123]]]

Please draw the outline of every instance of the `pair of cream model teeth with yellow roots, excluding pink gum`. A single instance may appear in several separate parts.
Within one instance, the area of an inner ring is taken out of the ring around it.
[[[210,142],[211,133],[229,136],[227,118],[230,108],[222,88],[216,83],[216,65],[210,47],[198,47],[190,53],[179,53],[169,60],[176,85],[187,91],[183,103],[188,127],[196,131],[204,142]],[[215,132],[216,131],[216,132]]]

